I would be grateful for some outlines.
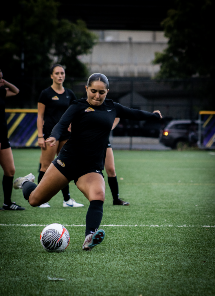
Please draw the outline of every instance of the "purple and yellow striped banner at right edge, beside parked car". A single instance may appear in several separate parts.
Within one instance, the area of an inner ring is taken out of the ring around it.
[[[199,111],[198,147],[215,149],[215,111]]]

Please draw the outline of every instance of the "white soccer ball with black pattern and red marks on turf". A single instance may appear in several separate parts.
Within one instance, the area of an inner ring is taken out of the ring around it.
[[[61,252],[68,247],[70,240],[68,230],[61,224],[46,226],[40,234],[40,242],[46,251]]]

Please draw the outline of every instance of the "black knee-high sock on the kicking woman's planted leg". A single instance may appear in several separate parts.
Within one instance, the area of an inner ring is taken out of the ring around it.
[[[86,236],[99,228],[103,215],[103,203],[102,200],[92,200],[90,202],[86,213]]]

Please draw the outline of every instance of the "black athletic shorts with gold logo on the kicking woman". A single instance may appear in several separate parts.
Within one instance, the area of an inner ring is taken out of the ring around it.
[[[74,180],[75,184],[78,181],[78,178],[80,178],[81,176],[84,176],[88,173],[98,173],[98,174],[102,175],[102,177],[104,178],[102,171],[97,168],[89,168],[87,170],[84,170],[84,169],[77,170],[74,167],[74,159],[72,157],[69,158],[68,156],[63,155],[63,154],[59,154],[52,161],[52,163],[55,166],[55,168],[57,168],[59,170],[59,172],[61,172],[63,174],[63,176],[65,176],[68,179],[69,182]]]

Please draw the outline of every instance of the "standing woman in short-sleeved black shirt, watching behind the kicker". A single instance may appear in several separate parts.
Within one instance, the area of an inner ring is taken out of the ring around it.
[[[45,140],[49,138],[52,128],[59,122],[63,113],[67,110],[70,104],[76,100],[76,96],[71,89],[63,87],[65,80],[65,70],[60,64],[54,65],[51,70],[52,86],[43,90],[38,100],[38,145],[41,147],[41,168],[38,176],[38,184],[41,181],[44,173],[49,165],[54,160],[55,155],[60,152],[60,149],[70,137],[70,132],[65,131],[60,136],[55,147],[50,149],[46,145]],[[62,189],[64,197],[64,207],[83,207],[84,205],[77,203],[70,198],[69,185]],[[40,207],[50,207],[49,203],[44,203]]]

